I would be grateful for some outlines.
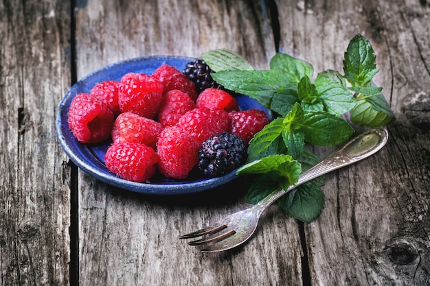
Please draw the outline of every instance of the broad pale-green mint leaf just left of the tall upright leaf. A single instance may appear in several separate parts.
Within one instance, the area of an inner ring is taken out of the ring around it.
[[[357,103],[346,87],[346,80],[337,71],[318,73],[314,82],[324,110],[332,115],[343,115]]]

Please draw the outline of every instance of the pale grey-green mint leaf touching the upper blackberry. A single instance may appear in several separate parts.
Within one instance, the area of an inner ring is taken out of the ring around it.
[[[212,69],[212,71],[253,70],[247,60],[233,51],[227,49],[214,49],[202,53],[201,59]]]

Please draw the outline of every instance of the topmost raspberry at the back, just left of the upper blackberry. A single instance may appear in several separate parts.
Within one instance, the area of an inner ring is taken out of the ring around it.
[[[197,93],[194,82],[181,73],[179,69],[168,64],[161,64],[151,76],[163,84],[165,93],[179,89],[179,91],[188,94],[193,102],[196,100]]]

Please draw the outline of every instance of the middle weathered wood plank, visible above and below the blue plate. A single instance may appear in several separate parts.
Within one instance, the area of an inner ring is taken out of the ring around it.
[[[275,53],[264,1],[120,3],[89,1],[79,8],[78,78],[117,60],[151,54],[198,57],[224,47],[266,68]],[[229,188],[245,191],[240,184]],[[228,191],[220,188],[202,198],[150,198],[80,172],[81,283],[302,284],[297,224],[276,208],[264,216],[258,235],[234,252],[201,255],[177,239],[240,208],[242,196],[231,198]]]

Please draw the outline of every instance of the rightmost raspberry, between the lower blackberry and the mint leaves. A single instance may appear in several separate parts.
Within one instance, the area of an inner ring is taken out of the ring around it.
[[[258,109],[229,112],[229,118],[229,132],[238,135],[245,143],[269,123],[266,113]]]

